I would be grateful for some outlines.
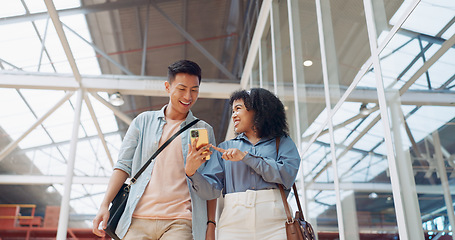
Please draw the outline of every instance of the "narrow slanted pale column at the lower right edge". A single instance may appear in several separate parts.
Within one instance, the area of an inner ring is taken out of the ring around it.
[[[452,239],[455,240],[455,215],[453,209],[453,200],[449,188],[449,180],[447,179],[447,169],[445,167],[444,158],[442,156],[442,145],[439,140],[438,131],[433,132],[433,145],[438,168],[439,178],[441,179],[442,189],[444,190],[444,200],[447,207],[447,216],[449,217],[450,226],[452,227]]]

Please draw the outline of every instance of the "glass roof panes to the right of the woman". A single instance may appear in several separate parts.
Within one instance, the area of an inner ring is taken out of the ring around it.
[[[390,25],[397,23],[411,1],[404,1],[403,5],[389,21]],[[437,16],[437,17],[435,17]],[[387,89],[399,90],[419,70],[425,61],[430,59],[440,49],[443,41],[452,37],[455,33],[455,1],[421,1],[410,17],[406,20],[402,29],[390,41],[381,53],[381,70],[384,78],[384,86]],[[450,24],[452,22],[452,24]],[[448,29],[444,29],[446,26]],[[379,37],[379,43],[388,34],[384,31]],[[423,46],[423,47],[421,47]],[[423,59],[419,54],[424,51]],[[370,66],[372,67],[372,66]],[[452,46],[438,61],[429,69],[428,75],[422,74],[411,85],[409,92],[437,90],[440,92],[454,93],[455,77],[455,47]],[[430,79],[428,79],[430,78]],[[398,81],[397,81],[398,80]],[[358,88],[375,89],[376,80],[374,71],[370,69],[360,80]],[[429,99],[430,100],[430,99]],[[369,103],[371,109],[376,104]],[[335,143],[337,156],[348,144],[379,115],[379,110],[374,111],[366,118],[361,118],[343,126],[343,123],[359,114],[361,103],[346,102],[332,119],[335,128]],[[455,118],[455,108],[451,106],[420,106],[401,105],[401,109],[412,131],[414,141],[423,141],[435,130],[450,124]],[[303,134],[303,139],[309,141],[312,135],[324,124],[327,118],[326,110],[322,111],[316,120]],[[341,128],[336,128],[341,125]],[[328,129],[325,129],[328,131]],[[402,133],[406,136],[406,133]],[[405,145],[411,148],[409,139],[404,139]],[[338,176],[343,182],[370,182],[379,174],[388,169],[387,149],[384,146],[383,129],[381,124],[375,124],[362,138],[353,145],[352,149],[337,159]],[[307,142],[303,143],[304,145]],[[309,146],[303,157],[303,169],[305,182],[315,181],[318,183],[333,183],[333,171],[328,169],[321,176],[313,179],[316,173],[331,161],[329,134],[321,134],[315,144]],[[364,160],[364,161],[362,161]],[[342,164],[341,164],[342,163]],[[336,203],[333,191],[309,191],[309,215],[316,218]],[[342,191],[341,194],[350,194]],[[342,197],[343,198],[343,197]]]

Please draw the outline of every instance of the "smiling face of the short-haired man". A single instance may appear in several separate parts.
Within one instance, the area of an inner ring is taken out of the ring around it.
[[[165,82],[164,84],[166,92],[169,94],[166,117],[175,120],[185,119],[198,98],[199,78],[187,73],[178,73],[172,83]]]

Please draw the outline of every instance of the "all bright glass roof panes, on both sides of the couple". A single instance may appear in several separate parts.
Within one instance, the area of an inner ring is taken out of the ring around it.
[[[3,0],[0,2],[0,19],[5,17],[19,16],[26,13],[46,12],[43,1],[33,0]],[[79,1],[54,0],[58,10],[80,7]],[[407,8],[409,1],[404,1],[403,6],[391,18],[390,24],[394,25],[397,19]],[[435,14],[437,13],[437,14]],[[437,17],[434,17],[437,16]],[[424,64],[422,58],[413,62],[413,59],[420,54],[420,46],[428,46],[425,52],[426,59],[441,47],[440,39],[448,39],[455,33],[455,24],[448,29],[442,29],[455,17],[455,1],[453,0],[426,0],[421,1],[409,19],[405,22],[403,29],[413,33],[422,33],[425,36],[413,36],[399,32],[383,51],[381,66],[387,86],[400,89],[405,82]],[[66,36],[76,59],[81,74],[100,75],[101,70],[98,64],[98,57],[93,48],[86,43],[91,42],[90,32],[83,14],[63,16],[61,21],[70,29],[76,31],[80,36],[64,26]],[[20,29],[20,31],[17,31]],[[387,33],[384,32],[384,35]],[[83,38],[83,39],[82,39]],[[381,38],[380,38],[381,39]],[[392,57],[389,57],[393,55]],[[400,59],[397,61],[397,59]],[[410,66],[407,71],[404,71]],[[2,71],[27,71],[40,73],[71,74],[71,68],[61,47],[52,21],[48,18],[38,19],[33,22],[27,18],[18,19],[15,23],[0,24],[0,69]],[[455,75],[455,49],[450,48],[429,70],[431,86],[429,86],[426,75],[423,74],[410,90],[450,91],[453,93],[453,81]],[[398,79],[399,81],[396,81]],[[358,87],[375,87],[374,73],[367,73]],[[65,95],[64,91],[57,90],[32,90],[32,89],[6,89],[0,88],[0,127],[6,132],[7,137],[14,141],[24,134],[37,119],[43,116]],[[104,99],[108,99],[106,93],[100,93]],[[116,160],[118,149],[121,144],[117,121],[107,107],[90,96],[91,103],[100,123],[101,130],[105,135],[109,151]],[[76,96],[73,95],[60,108],[52,113],[42,124],[33,130],[27,137],[19,142],[20,153],[25,153],[30,161],[39,169],[43,175],[62,176],[66,173],[66,161],[69,155],[69,141],[71,140],[72,122],[74,115]],[[368,107],[373,107],[369,104]],[[358,114],[359,103],[346,103],[333,119],[334,125],[343,123],[345,120]],[[455,116],[453,107],[444,106],[422,106],[415,110],[415,106],[402,106],[403,113],[409,119],[410,128],[416,142],[421,141],[434,130],[450,122]],[[357,120],[344,128],[337,130],[337,143],[351,142],[377,115],[378,111],[370,114],[363,122]],[[324,123],[327,116],[322,111],[319,117],[308,128],[306,136],[310,136]],[[366,173],[366,161],[353,166],[359,171],[356,174],[343,176],[346,180],[352,181],[363,179],[368,182],[388,167],[384,164],[386,149],[382,144],[382,129],[374,126],[356,143],[352,151],[346,153],[339,161],[345,161],[347,168],[363,158],[369,158],[370,168]],[[109,159],[103,149],[103,145],[97,137],[97,131],[86,105],[82,107],[81,124],[79,130],[80,140],[75,160],[75,176],[103,176],[111,175]],[[305,173],[307,179],[312,178],[308,172],[318,172],[325,161],[324,148],[329,146],[328,134],[318,138],[318,144],[313,144],[308,149],[311,158],[306,158]],[[408,146],[411,146],[408,143]],[[2,146],[3,150],[6,146]],[[374,147],[374,149],[373,149]],[[83,149],[83,151],[81,151]],[[373,149],[373,150],[372,150]],[[368,153],[368,154],[365,154]],[[16,154],[13,152],[11,154]],[[10,154],[10,155],[11,155]],[[94,159],[96,161],[94,162]],[[373,168],[371,166],[374,166]],[[346,169],[347,170],[347,169]],[[331,173],[329,171],[329,173]],[[324,178],[323,182],[333,182],[333,176]],[[63,194],[63,187],[54,184],[54,188]],[[95,214],[103,198],[106,185],[81,185],[74,184],[71,193],[71,207],[79,214]],[[310,191],[311,192],[311,191]],[[331,192],[309,193],[316,197],[319,204],[311,202],[310,217],[316,217],[323,212],[327,206],[335,204],[335,195]],[[319,209],[319,210],[318,210]],[[90,224],[90,220],[87,224]]]

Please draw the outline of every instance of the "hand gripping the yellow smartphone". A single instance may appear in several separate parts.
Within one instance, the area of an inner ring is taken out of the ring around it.
[[[212,144],[207,144],[199,149],[196,149],[197,138],[194,139],[192,144],[188,144],[188,155],[186,156],[186,164],[185,164],[185,173],[187,176],[191,177],[194,175],[196,170],[205,163],[206,157],[212,154],[210,151],[210,147]]]

